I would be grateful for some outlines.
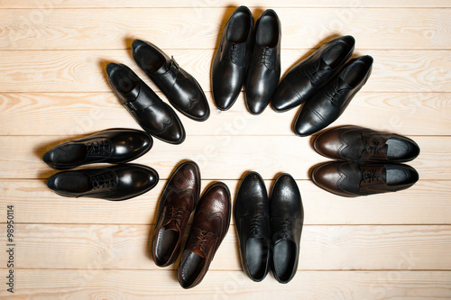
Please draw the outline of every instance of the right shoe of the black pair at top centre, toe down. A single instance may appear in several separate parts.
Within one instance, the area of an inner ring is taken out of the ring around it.
[[[245,83],[245,103],[251,114],[262,114],[281,77],[281,21],[268,9],[258,18]]]

